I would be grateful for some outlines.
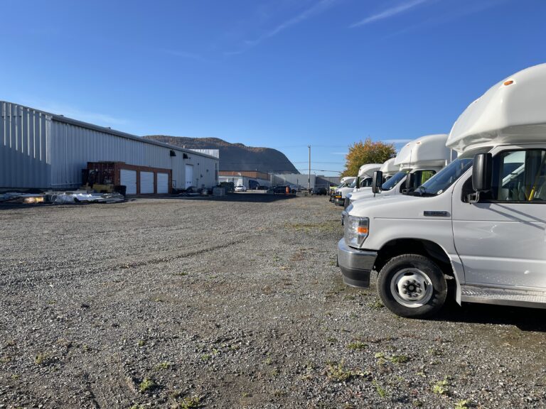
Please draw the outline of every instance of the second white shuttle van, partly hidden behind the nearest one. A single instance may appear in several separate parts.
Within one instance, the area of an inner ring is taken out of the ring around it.
[[[411,192],[451,162],[451,150],[446,147],[446,133],[421,136],[407,143],[395,158],[394,166],[398,172],[381,185],[381,195],[400,195]],[[407,178],[407,175],[410,175]],[[372,187],[346,195],[345,208],[356,200],[374,197]]]

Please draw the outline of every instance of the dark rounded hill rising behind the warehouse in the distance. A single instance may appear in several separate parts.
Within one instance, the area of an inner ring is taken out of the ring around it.
[[[220,170],[258,170],[260,172],[299,173],[284,153],[272,148],[254,148],[218,138],[186,138],[150,135],[146,139],[188,149],[219,149]]]

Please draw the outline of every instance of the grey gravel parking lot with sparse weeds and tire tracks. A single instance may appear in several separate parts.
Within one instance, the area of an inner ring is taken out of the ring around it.
[[[396,317],[343,285],[340,211],[250,194],[0,207],[0,407],[546,407],[545,312]]]

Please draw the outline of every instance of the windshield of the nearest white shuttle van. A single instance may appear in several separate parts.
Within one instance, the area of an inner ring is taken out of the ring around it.
[[[424,182],[421,186],[417,187],[410,195],[417,196],[436,196],[444,192],[449,186],[471,168],[474,156],[478,153],[486,153],[491,151],[491,146],[484,146],[483,148],[473,149],[463,153],[459,158],[456,158],[453,162],[449,163],[444,169],[440,170],[436,175],[432,176],[427,182]]]

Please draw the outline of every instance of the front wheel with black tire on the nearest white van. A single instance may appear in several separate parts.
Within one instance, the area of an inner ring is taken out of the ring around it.
[[[400,292],[403,285],[407,288],[404,294]],[[383,305],[400,317],[429,317],[444,305],[447,283],[441,268],[429,258],[403,254],[391,258],[381,269],[378,293]],[[407,300],[411,296],[418,299]]]

